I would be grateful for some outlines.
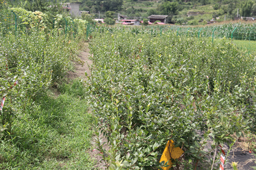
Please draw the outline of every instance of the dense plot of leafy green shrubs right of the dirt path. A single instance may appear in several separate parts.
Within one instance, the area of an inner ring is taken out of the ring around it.
[[[184,151],[176,169],[210,168],[218,145],[255,135],[255,57],[231,42],[123,30],[97,34],[90,52],[87,91],[110,169],[160,168],[169,139]]]

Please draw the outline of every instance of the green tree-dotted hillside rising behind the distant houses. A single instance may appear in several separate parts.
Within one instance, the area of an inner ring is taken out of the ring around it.
[[[78,3],[80,11],[90,11],[91,14],[95,14],[95,17],[98,17],[100,12],[100,18],[105,17],[106,11],[116,12],[115,17],[119,13],[136,19],[153,14],[168,15],[168,23],[187,23],[188,25],[205,24],[212,18],[219,21],[230,20],[237,15],[256,17],[256,0],[27,0],[25,3],[22,0],[9,1],[20,1],[19,5],[23,5],[23,8],[34,11],[47,11],[41,7],[49,7],[50,3]]]

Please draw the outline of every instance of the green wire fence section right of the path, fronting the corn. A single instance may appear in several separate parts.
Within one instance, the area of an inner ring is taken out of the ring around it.
[[[211,38],[212,43],[218,43],[221,38],[232,41],[238,48],[246,53],[256,53],[256,22],[254,23],[229,23],[207,27],[183,27],[183,26],[122,26],[117,29],[129,29],[135,34],[148,33],[153,37],[164,32],[174,32],[181,37],[197,37],[199,39]],[[113,32],[114,28],[105,28]],[[101,27],[99,33],[104,31]]]

